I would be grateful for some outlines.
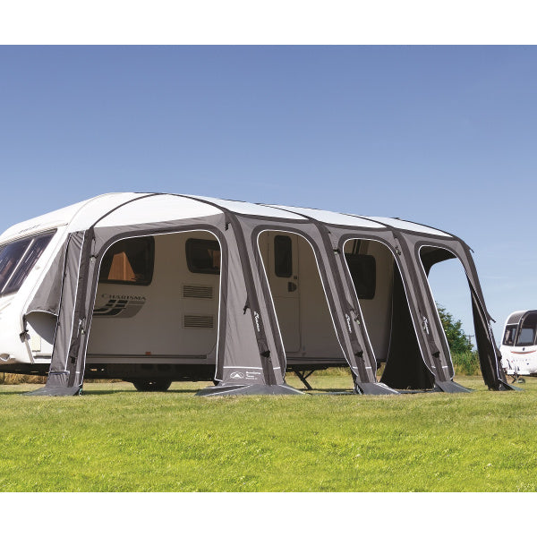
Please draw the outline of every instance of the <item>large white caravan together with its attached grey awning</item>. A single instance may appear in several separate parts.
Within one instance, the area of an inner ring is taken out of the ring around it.
[[[430,267],[454,258],[483,379],[508,389],[470,250],[454,235],[319,209],[103,194],[0,235],[0,371],[47,374],[40,395],[75,395],[84,378],[288,393],[286,370],[305,381],[330,366],[350,367],[360,394],[466,391],[428,284]]]

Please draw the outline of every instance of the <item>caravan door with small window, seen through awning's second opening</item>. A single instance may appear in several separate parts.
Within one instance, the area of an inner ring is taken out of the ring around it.
[[[297,239],[296,234],[268,232],[268,283],[286,353],[298,353],[301,345]]]

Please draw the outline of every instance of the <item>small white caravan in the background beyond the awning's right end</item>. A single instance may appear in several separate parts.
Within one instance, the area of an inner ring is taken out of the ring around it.
[[[537,310],[514,311],[507,317],[499,347],[506,375],[537,376]]]

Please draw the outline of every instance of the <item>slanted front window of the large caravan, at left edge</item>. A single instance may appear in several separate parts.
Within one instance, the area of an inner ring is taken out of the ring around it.
[[[16,293],[55,232],[27,237],[0,247],[0,295]]]

